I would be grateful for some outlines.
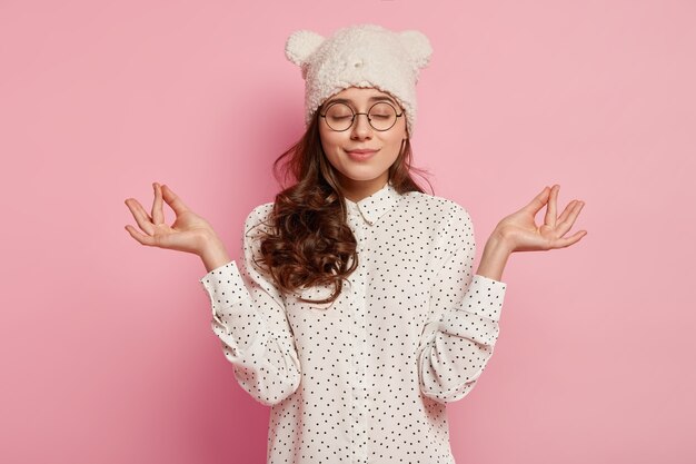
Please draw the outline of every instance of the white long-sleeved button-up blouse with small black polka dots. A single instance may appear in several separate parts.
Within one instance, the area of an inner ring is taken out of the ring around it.
[[[390,182],[346,200],[358,268],[284,295],[251,265],[272,204],[247,217],[243,261],[210,270],[212,330],[239,385],[271,406],[268,463],[454,463],[446,404],[493,355],[506,284],[471,273],[469,214]]]

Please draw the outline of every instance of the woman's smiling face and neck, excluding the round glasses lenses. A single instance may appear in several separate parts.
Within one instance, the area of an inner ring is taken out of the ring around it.
[[[328,98],[320,112],[325,113],[336,100],[346,102],[354,112],[362,113],[376,102],[387,101],[396,108],[398,115],[404,115],[396,118],[396,124],[385,131],[374,129],[366,115],[356,115],[352,126],[344,131],[332,130],[325,118],[319,118],[324,154],[336,170],[344,195],[358,201],[379,190],[389,179],[389,167],[399,156],[402,140],[408,137],[406,115],[389,93],[357,87],[349,87]],[[377,124],[375,119],[374,124]],[[369,151],[360,154],[361,150]]]

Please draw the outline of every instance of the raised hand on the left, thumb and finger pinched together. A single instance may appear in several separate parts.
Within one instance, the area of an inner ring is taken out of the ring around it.
[[[136,218],[136,223],[145,234],[133,226],[126,230],[140,244],[159,248],[176,249],[203,256],[212,247],[221,247],[212,226],[202,217],[191,211],[181,199],[166,185],[153,182],[155,201],[152,216],[135,198],[126,199],[126,206]],[[177,219],[170,226],[165,223],[162,199],[173,209]]]

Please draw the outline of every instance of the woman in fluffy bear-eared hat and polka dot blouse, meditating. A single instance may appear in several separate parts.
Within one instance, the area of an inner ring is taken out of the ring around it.
[[[446,404],[493,354],[509,255],[586,234],[565,237],[583,201],[558,216],[559,186],[545,187],[500,220],[471,273],[467,210],[411,178],[430,52],[420,32],[374,24],[290,36],[307,131],[276,165],[294,184],[248,215],[239,267],[166,185],[153,184],[151,216],[126,200],[136,240],[201,257],[212,330],[240,386],[271,406],[269,463],[453,463]]]

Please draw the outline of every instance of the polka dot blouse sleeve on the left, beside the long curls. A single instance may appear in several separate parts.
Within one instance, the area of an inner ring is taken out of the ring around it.
[[[275,405],[297,389],[301,371],[284,299],[266,273],[253,265],[269,205],[255,208],[245,221],[241,268],[231,260],[199,282],[210,297],[212,332],[239,385],[260,403]]]

